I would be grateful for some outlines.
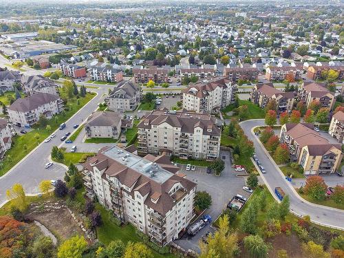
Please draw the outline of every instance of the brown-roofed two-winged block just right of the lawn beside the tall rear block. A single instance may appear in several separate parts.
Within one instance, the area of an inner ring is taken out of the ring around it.
[[[261,108],[265,108],[270,100],[275,100],[277,114],[281,114],[284,111],[290,112],[292,110],[295,97],[294,92],[281,92],[274,87],[273,83],[259,83],[253,87],[250,99],[252,103]]]

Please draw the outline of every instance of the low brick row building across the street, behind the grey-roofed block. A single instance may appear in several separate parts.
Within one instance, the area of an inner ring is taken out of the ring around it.
[[[166,68],[135,68],[133,69],[135,83],[167,83],[169,80],[169,69]]]

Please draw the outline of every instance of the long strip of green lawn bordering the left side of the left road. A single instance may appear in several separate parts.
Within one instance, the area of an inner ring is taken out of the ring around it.
[[[34,125],[34,130],[24,134],[23,136],[14,136],[12,138],[12,148],[6,152],[6,157],[4,158],[3,162],[1,163],[0,169],[0,176],[5,174],[7,171],[12,169],[12,167],[17,164],[20,160],[22,160],[25,155],[30,153],[32,149],[38,146],[45,138],[50,136],[50,134],[55,131],[62,122],[65,122],[70,117],[72,117],[78,109],[83,107],[86,103],[91,100],[95,94],[89,94],[85,96],[85,98],[79,98],[79,105],[76,102],[76,98],[69,101],[67,107],[69,107],[68,111],[65,111],[65,114],[58,114],[54,116],[51,120],[49,120],[48,124],[52,129],[49,131],[45,128],[39,128],[37,125]],[[34,136],[35,134],[39,134],[39,139],[37,140]],[[25,150],[26,146],[26,150]],[[10,158],[8,158],[10,156]],[[27,171],[29,173],[29,171]]]

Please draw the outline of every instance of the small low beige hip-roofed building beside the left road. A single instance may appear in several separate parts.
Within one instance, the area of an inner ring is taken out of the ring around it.
[[[120,136],[121,116],[113,111],[96,111],[87,118],[87,138],[115,138]]]

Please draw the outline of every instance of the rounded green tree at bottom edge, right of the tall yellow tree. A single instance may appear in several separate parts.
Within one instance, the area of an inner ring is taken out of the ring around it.
[[[249,235],[244,238],[245,249],[252,258],[265,258],[268,256],[270,246],[259,235]]]

